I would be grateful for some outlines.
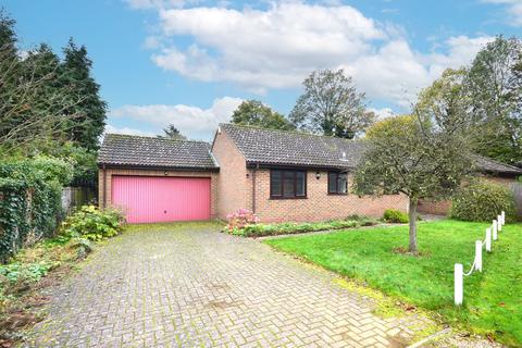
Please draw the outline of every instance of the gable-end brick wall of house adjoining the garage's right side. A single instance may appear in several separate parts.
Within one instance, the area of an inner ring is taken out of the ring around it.
[[[250,188],[245,158],[224,132],[215,135],[212,153],[220,164],[217,216],[225,219],[227,213],[240,208],[251,209],[247,204]]]

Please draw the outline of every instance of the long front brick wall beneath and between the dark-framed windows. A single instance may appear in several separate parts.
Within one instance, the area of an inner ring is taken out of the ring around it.
[[[320,172],[319,179],[315,178],[315,173],[316,171],[307,172],[306,199],[270,199],[270,170],[256,171],[256,213],[261,221],[323,221],[351,214],[382,217],[388,208],[408,211],[408,197],[403,195],[376,198],[353,194],[328,195],[327,172]],[[251,170],[249,176],[252,178]],[[350,177],[348,179],[350,185]],[[250,179],[250,188],[252,181]]]

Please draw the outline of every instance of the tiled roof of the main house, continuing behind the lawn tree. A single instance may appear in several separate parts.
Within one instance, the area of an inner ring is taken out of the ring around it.
[[[248,164],[353,169],[364,152],[364,145],[357,140],[234,124],[220,127]],[[477,164],[484,172],[522,174],[515,166],[482,157]]]

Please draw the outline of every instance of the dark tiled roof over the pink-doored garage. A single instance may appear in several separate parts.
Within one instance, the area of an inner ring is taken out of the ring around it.
[[[216,169],[210,144],[192,140],[107,134],[99,164],[173,169]]]

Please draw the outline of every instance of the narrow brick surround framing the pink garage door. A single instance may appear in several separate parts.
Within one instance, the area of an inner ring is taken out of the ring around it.
[[[162,176],[162,177],[210,177],[210,215],[211,219],[217,217],[217,172],[199,172],[199,171],[154,171],[154,170],[125,170],[125,169],[107,169],[105,170],[105,191],[103,191],[103,170],[98,171],[98,190],[99,204],[103,207],[105,198],[107,206],[111,206],[111,184],[112,175],[134,175],[134,176]],[[107,197],[105,197],[107,195]]]

